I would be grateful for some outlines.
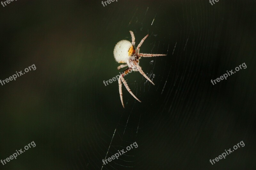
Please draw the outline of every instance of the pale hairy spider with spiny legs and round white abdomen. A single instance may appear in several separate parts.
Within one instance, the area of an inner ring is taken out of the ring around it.
[[[155,57],[155,56],[166,56],[165,54],[144,54],[140,53],[140,46],[145,41],[145,39],[148,37],[149,34],[147,34],[141,41],[140,44],[135,48],[135,37],[132,31],[130,31],[132,36],[132,42],[127,40],[122,40],[117,42],[115,48],[114,48],[114,57],[116,59],[116,62],[118,63],[126,63],[121,64],[117,67],[118,70],[121,68],[124,68],[128,66],[124,70],[124,72],[121,73],[119,79],[118,79],[118,85],[119,85],[119,93],[120,93],[120,99],[122,102],[122,105],[124,107],[123,102],[123,93],[122,93],[122,82],[124,83],[125,88],[127,91],[139,102],[141,102],[130,90],[129,86],[127,85],[126,81],[124,80],[124,76],[128,74],[131,71],[139,71],[142,76],[144,76],[150,83],[155,85],[149,78],[146,76],[146,74],[142,71],[140,65],[139,65],[139,59],[140,57]],[[121,82],[122,81],[122,82]]]

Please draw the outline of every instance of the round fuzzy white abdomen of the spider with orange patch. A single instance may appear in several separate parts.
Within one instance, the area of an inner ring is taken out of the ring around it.
[[[126,63],[129,60],[132,53],[132,43],[127,40],[117,42],[114,48],[114,57],[118,63]]]

